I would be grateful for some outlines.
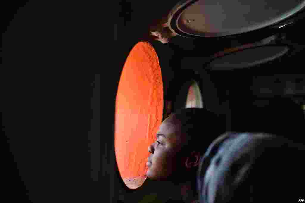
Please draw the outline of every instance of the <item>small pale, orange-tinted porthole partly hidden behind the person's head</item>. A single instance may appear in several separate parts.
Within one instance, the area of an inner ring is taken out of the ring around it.
[[[192,84],[188,89],[188,96],[185,104],[185,108],[192,107],[203,108],[202,96],[196,81],[192,81]]]

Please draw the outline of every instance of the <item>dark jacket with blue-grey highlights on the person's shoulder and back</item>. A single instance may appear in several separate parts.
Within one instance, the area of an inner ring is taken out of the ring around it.
[[[227,133],[200,159],[201,203],[297,202],[305,198],[305,147],[268,134]]]

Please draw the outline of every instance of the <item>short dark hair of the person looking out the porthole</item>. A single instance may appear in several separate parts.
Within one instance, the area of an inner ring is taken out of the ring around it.
[[[180,131],[186,135],[183,152],[197,151],[203,155],[210,143],[225,131],[219,116],[206,109],[180,109],[171,116],[178,119]]]

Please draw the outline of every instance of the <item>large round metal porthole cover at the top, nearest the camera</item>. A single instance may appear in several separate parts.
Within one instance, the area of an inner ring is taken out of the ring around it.
[[[305,7],[305,0],[183,1],[173,9],[172,29],[192,36],[220,37],[276,24]]]

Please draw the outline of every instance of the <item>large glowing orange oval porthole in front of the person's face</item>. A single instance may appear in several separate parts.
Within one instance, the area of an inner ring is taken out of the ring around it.
[[[156,51],[148,42],[132,48],[117,90],[114,147],[120,175],[130,189],[146,180],[148,146],[162,122],[163,83]]]

